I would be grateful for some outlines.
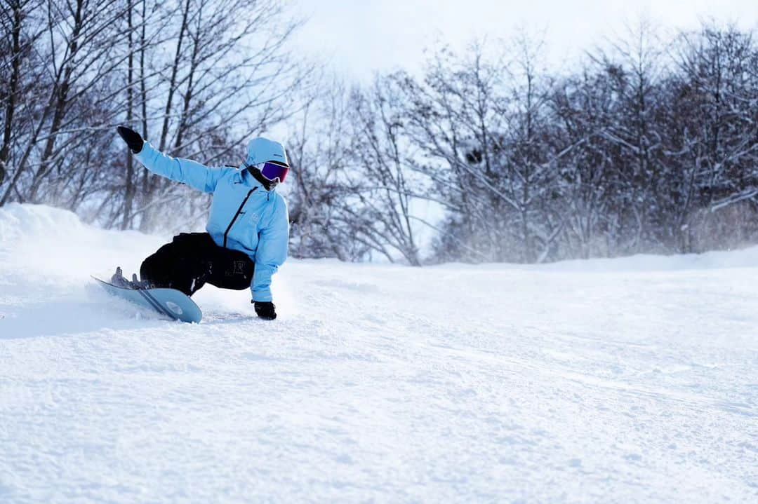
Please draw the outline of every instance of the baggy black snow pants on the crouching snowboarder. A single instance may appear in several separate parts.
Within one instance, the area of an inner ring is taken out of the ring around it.
[[[239,250],[219,247],[208,233],[181,233],[143,261],[142,280],[191,296],[205,282],[241,291],[250,287],[255,263]]]

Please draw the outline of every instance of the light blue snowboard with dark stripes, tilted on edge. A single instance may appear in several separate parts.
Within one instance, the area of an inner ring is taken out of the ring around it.
[[[92,277],[102,285],[106,291],[114,296],[131,301],[136,305],[149,310],[155,310],[163,316],[182,322],[200,322],[202,311],[195,302],[181,291],[169,288],[127,288],[119,287],[105,282],[100,278]]]

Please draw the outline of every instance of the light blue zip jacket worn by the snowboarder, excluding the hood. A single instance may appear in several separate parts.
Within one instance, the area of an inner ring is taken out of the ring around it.
[[[271,275],[287,260],[290,222],[287,204],[275,189],[266,191],[242,167],[208,168],[196,161],[167,156],[148,142],[135,157],[152,173],[213,193],[205,230],[219,247],[240,250],[255,263],[252,299],[271,301]],[[252,164],[250,154],[248,163]]]

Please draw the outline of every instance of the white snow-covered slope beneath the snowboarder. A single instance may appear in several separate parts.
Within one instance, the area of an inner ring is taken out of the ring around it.
[[[89,280],[167,239],[0,208],[0,502],[758,502],[756,248]]]

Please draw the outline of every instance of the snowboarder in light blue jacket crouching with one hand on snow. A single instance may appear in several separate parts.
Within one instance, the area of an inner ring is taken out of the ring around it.
[[[180,233],[160,247],[140,266],[140,285],[174,288],[188,296],[206,282],[237,291],[250,288],[255,313],[276,319],[271,275],[287,259],[290,238],[287,203],[275,191],[290,168],[283,145],[253,138],[240,167],[208,168],[163,154],[133,129],[118,126],[117,132],[152,173],[213,194],[207,232]],[[120,280],[127,282],[117,269],[114,281]]]

